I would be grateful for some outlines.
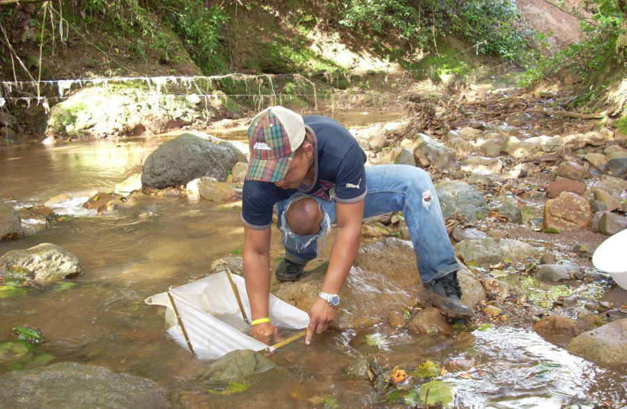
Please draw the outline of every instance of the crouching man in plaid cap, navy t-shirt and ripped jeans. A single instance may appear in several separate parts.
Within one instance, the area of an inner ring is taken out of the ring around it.
[[[276,275],[302,277],[318,256],[318,240],[337,223],[329,265],[309,309],[306,344],[327,330],[361,238],[362,219],[402,211],[410,232],[426,297],[442,314],[463,319],[457,263],[431,178],[406,165],[364,167],[366,154],[332,118],[300,116],[284,107],[261,111],[248,128],[250,163],[242,198],[244,274],[251,304],[251,334],[265,343],[279,339],[268,318],[272,208],[285,247]]]

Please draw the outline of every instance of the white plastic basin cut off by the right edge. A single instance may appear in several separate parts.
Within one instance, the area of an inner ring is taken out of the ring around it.
[[[627,229],[605,239],[594,252],[592,264],[627,290]]]

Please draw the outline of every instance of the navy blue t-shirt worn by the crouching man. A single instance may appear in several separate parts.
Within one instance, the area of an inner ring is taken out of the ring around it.
[[[242,221],[251,229],[268,229],[274,203],[304,192],[337,203],[354,203],[366,196],[366,153],[339,122],[327,116],[303,116],[314,143],[314,185],[284,190],[274,183],[245,180]]]

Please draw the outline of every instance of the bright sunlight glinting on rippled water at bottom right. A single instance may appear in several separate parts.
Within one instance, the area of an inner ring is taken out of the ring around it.
[[[458,401],[476,402],[477,407],[491,403],[495,408],[562,408],[596,400],[597,380],[589,377],[595,364],[528,330],[473,334],[477,341],[467,353],[480,364],[471,380],[451,380]]]

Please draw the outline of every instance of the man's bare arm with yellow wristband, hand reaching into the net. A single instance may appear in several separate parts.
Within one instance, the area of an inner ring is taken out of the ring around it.
[[[251,320],[269,316],[270,298],[270,228],[263,230],[244,226],[244,278],[250,301]],[[271,323],[253,325],[251,334],[268,344],[279,332]]]

